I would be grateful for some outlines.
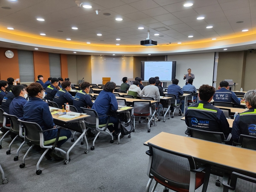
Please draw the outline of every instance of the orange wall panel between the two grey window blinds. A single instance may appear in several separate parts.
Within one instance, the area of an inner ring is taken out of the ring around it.
[[[35,81],[38,75],[44,76],[43,82],[50,77],[49,53],[33,51]]]

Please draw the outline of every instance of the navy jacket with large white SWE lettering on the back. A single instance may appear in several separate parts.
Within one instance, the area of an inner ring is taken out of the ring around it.
[[[235,105],[240,105],[240,100],[238,99],[236,94],[233,91],[227,90],[226,88],[216,90],[215,94],[213,95],[213,100],[235,103]]]

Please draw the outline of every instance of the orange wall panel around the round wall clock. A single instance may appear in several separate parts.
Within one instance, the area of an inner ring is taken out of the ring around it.
[[[14,52],[14,57],[11,59],[5,56],[5,51],[11,50]],[[19,59],[18,50],[9,48],[0,48],[0,79],[7,80],[12,77],[14,79],[19,78]]]

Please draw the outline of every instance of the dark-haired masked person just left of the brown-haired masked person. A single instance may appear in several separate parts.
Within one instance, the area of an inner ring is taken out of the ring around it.
[[[12,88],[14,99],[10,103],[9,111],[11,115],[15,115],[20,120],[24,120],[23,106],[27,103],[27,86],[17,85]],[[10,93],[10,92],[9,92]]]

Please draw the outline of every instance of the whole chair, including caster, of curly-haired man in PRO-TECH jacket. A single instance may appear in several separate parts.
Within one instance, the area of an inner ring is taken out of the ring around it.
[[[187,131],[185,131],[186,135],[189,135],[192,138],[202,139],[206,141],[211,141],[215,143],[222,143],[225,144],[226,142],[229,142],[231,139],[231,133],[229,133],[229,136],[227,139],[225,139],[225,135],[222,132],[213,132],[213,131],[205,131],[200,129],[195,129],[191,127],[187,127]],[[221,182],[219,181],[219,176],[217,176],[217,180],[215,182],[216,186],[221,186]]]

